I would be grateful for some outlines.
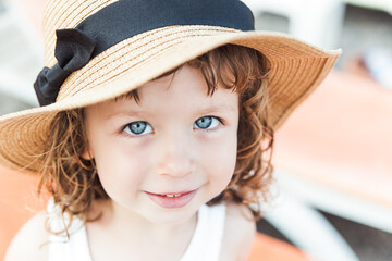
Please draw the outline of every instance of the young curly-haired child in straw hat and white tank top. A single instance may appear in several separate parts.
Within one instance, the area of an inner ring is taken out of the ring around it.
[[[0,161],[51,198],[7,260],[246,260],[273,132],[340,51],[238,0],[52,0],[44,28],[41,107],[0,119]]]

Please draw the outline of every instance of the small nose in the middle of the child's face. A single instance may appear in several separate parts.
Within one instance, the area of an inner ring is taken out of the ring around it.
[[[189,175],[194,170],[193,148],[189,137],[179,132],[161,137],[156,150],[159,175],[174,178]]]

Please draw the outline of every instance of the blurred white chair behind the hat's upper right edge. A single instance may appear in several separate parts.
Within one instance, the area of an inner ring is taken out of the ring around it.
[[[269,12],[289,18],[289,34],[321,48],[338,48],[345,4],[341,0],[243,0],[256,18]]]

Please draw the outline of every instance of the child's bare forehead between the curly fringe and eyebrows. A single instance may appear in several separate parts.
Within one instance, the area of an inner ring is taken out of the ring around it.
[[[137,99],[132,95],[105,102],[105,114],[126,110],[146,110],[156,113],[199,111],[237,111],[238,95],[219,86],[208,95],[207,83],[198,69],[181,67],[175,74],[148,82],[137,88]]]

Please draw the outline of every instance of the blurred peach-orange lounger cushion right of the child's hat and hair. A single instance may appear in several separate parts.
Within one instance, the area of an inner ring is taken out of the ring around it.
[[[391,115],[390,89],[334,71],[277,132],[274,165],[391,209]]]

